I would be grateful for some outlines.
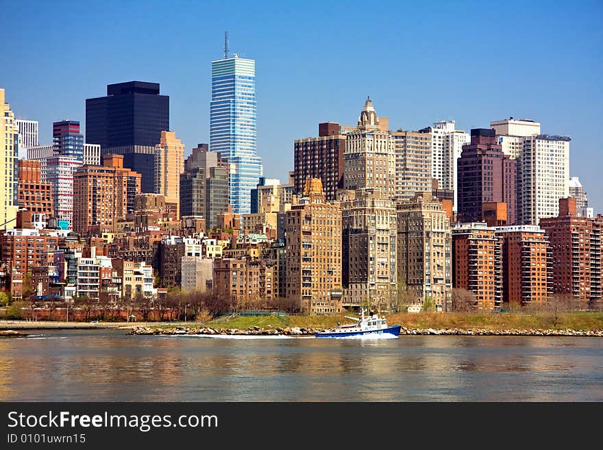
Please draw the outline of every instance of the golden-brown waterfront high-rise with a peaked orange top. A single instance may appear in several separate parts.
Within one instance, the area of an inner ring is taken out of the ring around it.
[[[286,296],[312,313],[341,312],[341,210],[325,202],[320,179],[286,212]]]

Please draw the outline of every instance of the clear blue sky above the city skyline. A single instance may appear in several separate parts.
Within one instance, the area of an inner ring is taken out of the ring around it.
[[[603,2],[0,0],[0,87],[16,115],[84,125],[84,100],[140,79],[170,96],[187,153],[209,140],[223,32],[256,60],[258,154],[286,180],[293,140],[354,125],[367,97],[390,127],[533,118],[569,134],[570,175],[603,212]],[[371,5],[369,8],[365,5]]]

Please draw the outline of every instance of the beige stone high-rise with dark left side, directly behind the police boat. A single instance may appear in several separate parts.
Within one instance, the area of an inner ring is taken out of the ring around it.
[[[380,190],[341,201],[343,306],[391,310],[397,301],[397,215]]]

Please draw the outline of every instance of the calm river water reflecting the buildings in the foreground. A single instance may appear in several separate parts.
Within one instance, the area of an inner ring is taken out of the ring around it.
[[[603,401],[603,339],[237,339],[34,331],[0,401]]]

